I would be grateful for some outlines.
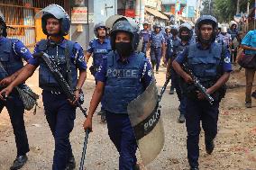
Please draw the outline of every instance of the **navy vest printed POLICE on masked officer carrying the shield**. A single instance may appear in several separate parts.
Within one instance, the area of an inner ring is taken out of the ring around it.
[[[144,55],[143,55],[144,56]],[[113,51],[107,55],[105,82],[105,110],[114,113],[127,113],[127,105],[142,94],[140,69],[146,62],[142,53],[135,54],[129,63],[123,65],[116,60]]]

